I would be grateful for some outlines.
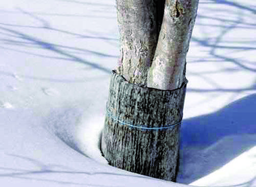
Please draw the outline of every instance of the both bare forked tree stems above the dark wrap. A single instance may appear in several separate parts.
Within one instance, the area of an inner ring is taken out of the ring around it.
[[[117,73],[143,87],[180,87],[198,0],[116,2],[120,33]]]

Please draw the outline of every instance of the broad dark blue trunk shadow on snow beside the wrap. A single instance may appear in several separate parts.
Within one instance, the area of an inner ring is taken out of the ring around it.
[[[183,120],[178,181],[191,183],[256,146],[256,94]]]

